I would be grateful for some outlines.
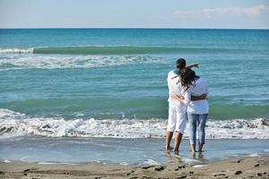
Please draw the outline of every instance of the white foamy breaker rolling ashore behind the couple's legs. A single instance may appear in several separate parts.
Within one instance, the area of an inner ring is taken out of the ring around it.
[[[163,138],[165,119],[103,119],[31,117],[0,109],[0,138],[39,135],[48,137]],[[269,139],[269,119],[208,120],[207,139]],[[188,124],[185,138],[188,137]]]

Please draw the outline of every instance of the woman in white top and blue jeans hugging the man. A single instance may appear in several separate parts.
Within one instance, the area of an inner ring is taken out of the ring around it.
[[[199,152],[202,152],[204,146],[204,138],[205,138],[205,122],[208,115],[208,85],[207,81],[203,77],[199,77],[195,75],[195,72],[186,69],[184,72],[180,74],[180,82],[181,85],[190,92],[190,96],[198,97],[203,94],[206,94],[206,98],[202,100],[187,100],[190,101],[187,107],[187,116],[189,121],[189,139],[191,145],[191,151],[194,153],[195,143],[196,143],[196,128],[198,126],[198,136],[199,136]],[[182,100],[178,98],[175,94],[173,94],[173,98],[177,98],[179,101]]]

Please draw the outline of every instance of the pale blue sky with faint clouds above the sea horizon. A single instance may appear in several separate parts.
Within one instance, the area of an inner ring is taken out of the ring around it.
[[[0,28],[269,29],[269,0],[0,0]]]

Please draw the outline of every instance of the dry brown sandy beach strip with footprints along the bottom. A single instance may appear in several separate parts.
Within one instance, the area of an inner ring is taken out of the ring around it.
[[[269,157],[231,158],[203,165],[121,166],[0,163],[0,178],[269,178]]]

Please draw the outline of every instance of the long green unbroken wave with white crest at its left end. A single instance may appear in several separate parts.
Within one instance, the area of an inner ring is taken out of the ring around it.
[[[145,55],[178,53],[223,53],[238,52],[239,49],[212,47],[135,47],[135,46],[91,46],[91,47],[31,47],[0,48],[0,54],[49,54],[49,55]]]

